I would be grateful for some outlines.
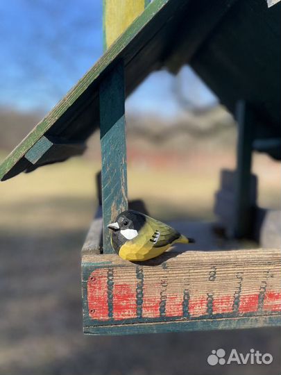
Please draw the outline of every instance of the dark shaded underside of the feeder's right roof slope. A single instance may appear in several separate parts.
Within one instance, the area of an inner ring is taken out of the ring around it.
[[[267,8],[265,1],[236,1],[190,60],[230,112],[239,99],[253,106],[256,138],[281,138],[280,19],[281,2]],[[279,150],[268,152],[280,160]]]

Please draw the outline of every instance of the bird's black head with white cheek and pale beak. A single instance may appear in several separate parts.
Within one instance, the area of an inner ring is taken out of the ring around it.
[[[112,230],[112,246],[117,253],[120,247],[128,240],[137,237],[144,226],[146,217],[134,210],[126,210],[119,214],[114,223],[108,224]]]

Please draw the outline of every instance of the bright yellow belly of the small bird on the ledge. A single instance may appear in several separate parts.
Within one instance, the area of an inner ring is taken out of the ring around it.
[[[160,256],[160,254],[164,253],[164,251],[169,249],[169,247],[171,247],[171,244],[164,247],[155,247],[152,249],[146,246],[137,247],[135,244],[124,244],[123,246],[121,246],[119,256],[121,256],[121,258],[125,260],[142,262],[144,260]]]

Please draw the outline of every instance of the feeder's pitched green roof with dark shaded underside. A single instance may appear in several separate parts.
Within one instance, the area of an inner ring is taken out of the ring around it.
[[[280,159],[280,5],[154,0],[4,160],[1,180],[83,153],[99,127],[99,83],[119,60],[126,96],[153,70],[189,63],[232,113],[239,99],[255,108],[255,138],[269,138],[263,151]]]

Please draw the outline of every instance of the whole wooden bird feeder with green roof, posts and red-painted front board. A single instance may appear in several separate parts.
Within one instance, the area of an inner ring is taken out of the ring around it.
[[[251,153],[281,159],[280,5],[105,0],[105,53],[1,165],[6,180],[66,160],[83,153],[100,127],[101,206],[82,255],[85,333],[281,325],[280,249],[169,251],[136,265],[113,252],[106,228],[128,207],[126,96],[155,69],[177,72],[189,63],[230,112],[238,111],[237,170],[223,176],[222,192],[233,197],[232,233],[249,234]]]

